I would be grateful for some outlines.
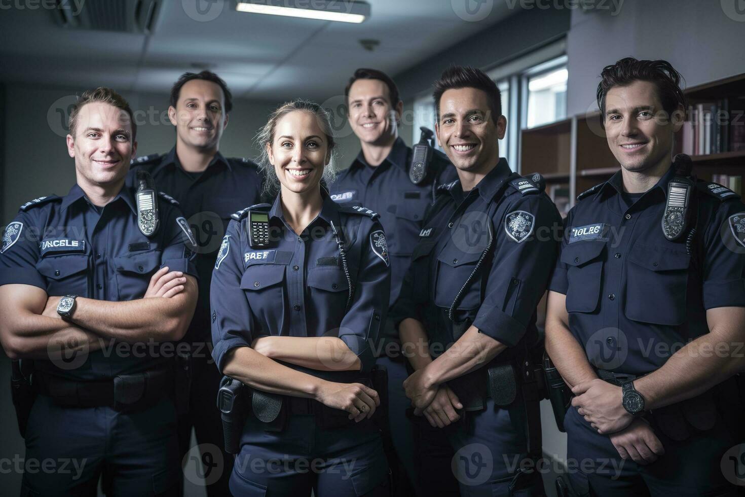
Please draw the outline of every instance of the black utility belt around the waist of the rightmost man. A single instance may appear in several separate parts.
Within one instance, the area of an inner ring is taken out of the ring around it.
[[[596,371],[600,379],[619,386],[644,376],[613,373],[600,369]],[[735,416],[733,417],[732,414]],[[695,431],[714,428],[717,421],[732,424],[730,428],[733,428],[732,433],[735,433],[737,431],[735,423],[741,422],[742,414],[738,377],[732,376],[691,399],[648,411],[644,414],[644,418],[653,422],[656,428],[671,439],[681,441],[691,437]]]

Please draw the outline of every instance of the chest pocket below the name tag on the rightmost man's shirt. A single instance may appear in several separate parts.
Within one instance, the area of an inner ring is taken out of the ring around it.
[[[567,312],[594,312],[600,301],[604,241],[577,241],[562,249],[561,262],[568,265]]]

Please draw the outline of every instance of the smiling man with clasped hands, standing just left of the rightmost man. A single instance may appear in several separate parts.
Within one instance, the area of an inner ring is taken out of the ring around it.
[[[484,72],[447,69],[434,100],[437,139],[459,180],[440,188],[391,311],[415,352],[404,387],[414,414],[457,451],[461,495],[543,495],[530,356],[559,214],[538,175],[520,177],[499,158],[506,121]]]

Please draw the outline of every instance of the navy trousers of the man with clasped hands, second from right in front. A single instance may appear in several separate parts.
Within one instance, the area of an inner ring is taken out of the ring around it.
[[[534,461],[527,454],[524,409],[495,408],[486,399],[483,411],[466,412],[468,420],[448,428],[448,438],[455,450],[453,471],[460,482],[461,496],[538,497],[544,496],[538,471],[522,475],[522,484],[514,492],[510,483],[520,468]],[[447,429],[447,428],[446,428]],[[534,466],[533,466],[534,467]],[[519,477],[520,478],[520,477]]]

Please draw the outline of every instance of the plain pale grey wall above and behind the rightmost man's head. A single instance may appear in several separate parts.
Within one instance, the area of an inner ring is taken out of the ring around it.
[[[567,115],[597,110],[603,67],[623,57],[668,60],[694,86],[745,71],[745,13],[737,0],[625,0],[610,10],[573,10],[567,35]]]

